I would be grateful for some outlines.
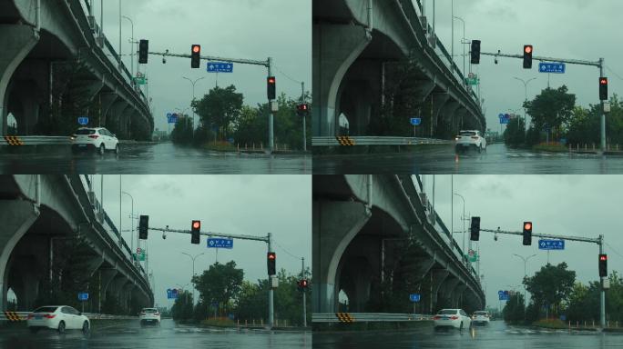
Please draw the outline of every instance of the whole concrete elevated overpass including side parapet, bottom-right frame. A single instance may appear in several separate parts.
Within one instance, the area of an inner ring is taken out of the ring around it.
[[[424,204],[423,204],[424,203]],[[475,268],[431,209],[417,177],[315,175],[312,306],[336,313],[419,314],[442,307],[484,309]]]

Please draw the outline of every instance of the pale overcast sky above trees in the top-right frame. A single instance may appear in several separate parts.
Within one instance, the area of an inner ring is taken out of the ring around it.
[[[434,0],[426,2],[426,12],[433,18]],[[448,51],[451,50],[451,0],[437,0],[435,4],[437,35]],[[482,52],[522,55],[524,45],[534,45],[535,56],[571,58],[598,61],[606,59],[609,77],[608,92],[620,95],[623,76],[623,45],[619,35],[620,0],[454,0],[454,15],[465,20],[465,37],[482,41]],[[454,55],[457,65],[463,66],[461,37],[463,23],[454,21]],[[465,52],[469,46],[465,45]],[[469,56],[466,57],[469,66]],[[473,70],[481,77],[481,97],[485,98],[487,128],[499,131],[497,115],[509,109],[522,107],[524,80],[536,77],[528,85],[528,99],[533,99],[547,86],[547,74],[538,72],[538,61],[532,70],[523,69],[521,59],[482,56],[480,65]],[[612,73],[614,71],[615,74]],[[550,85],[557,88],[567,85],[569,92],[577,95],[577,105],[587,107],[598,100],[597,67],[567,65],[567,74],[550,76]],[[518,110],[523,115],[523,110]]]

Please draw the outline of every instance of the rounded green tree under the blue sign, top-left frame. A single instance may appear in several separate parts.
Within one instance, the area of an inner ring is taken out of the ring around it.
[[[236,93],[236,87],[230,85],[226,88],[219,86],[209,90],[199,101],[193,101],[192,107],[201,119],[204,128],[215,125],[219,130],[220,139],[227,139],[231,127],[237,123],[240,117],[240,109],[244,97]]]

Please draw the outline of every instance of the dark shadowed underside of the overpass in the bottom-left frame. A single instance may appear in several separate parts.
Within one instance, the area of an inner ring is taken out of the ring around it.
[[[136,314],[153,304],[137,281],[101,254],[87,224],[74,226],[46,205],[25,200],[11,176],[0,176],[0,311],[70,304],[87,292],[86,312]],[[16,304],[8,304],[9,290]]]

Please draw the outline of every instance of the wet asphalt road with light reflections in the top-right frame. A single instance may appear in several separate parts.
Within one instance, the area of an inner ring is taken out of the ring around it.
[[[623,156],[532,153],[502,144],[456,155],[448,145],[409,154],[314,156],[313,174],[607,175],[623,174]]]

